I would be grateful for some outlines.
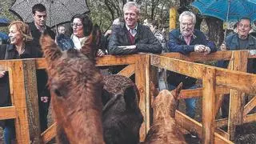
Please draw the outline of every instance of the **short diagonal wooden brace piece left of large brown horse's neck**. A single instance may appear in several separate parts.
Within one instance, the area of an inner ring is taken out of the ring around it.
[[[57,123],[54,122],[47,130],[41,134],[42,143],[49,142],[57,134]]]

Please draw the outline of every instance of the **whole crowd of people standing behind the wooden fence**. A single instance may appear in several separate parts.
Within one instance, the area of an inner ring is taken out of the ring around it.
[[[0,45],[0,59],[16,58],[42,58],[39,38],[42,32],[50,34],[62,50],[80,50],[88,38],[93,22],[86,14],[76,14],[70,20],[72,34],[66,34],[65,26],[58,26],[58,34],[46,26],[46,7],[36,4],[32,8],[34,22],[29,25],[22,21],[14,21],[9,26],[10,43]],[[136,2],[127,2],[123,6],[123,18],[114,20],[112,29],[102,34],[101,44],[97,56],[105,54],[123,55],[162,52],[177,52],[180,54],[190,54],[191,52],[210,54],[217,51],[214,42],[210,42],[205,34],[200,30],[195,30],[196,17],[190,11],[184,11],[179,15],[179,28],[171,30],[169,38],[166,38],[158,26],[157,21],[146,20],[140,22],[140,7]],[[256,38],[249,34],[251,30],[250,18],[241,18],[237,24],[237,33],[229,35],[219,50],[253,50],[256,47]],[[248,62],[248,72],[256,72],[256,62]],[[218,62],[218,66],[227,67],[228,62]],[[158,88],[159,90],[173,90],[180,82],[183,89],[195,89],[197,79],[186,75],[167,72],[167,82],[163,78],[164,70],[159,70]],[[38,101],[41,130],[47,128],[47,114],[50,103],[50,92],[46,86],[47,74],[45,70],[37,71],[38,78]],[[0,106],[10,106],[10,88],[8,72],[0,71]],[[225,97],[225,105],[222,106],[223,117],[228,114]],[[187,98],[186,114],[190,118],[195,117],[197,98]],[[14,139],[14,121],[5,120],[0,122],[4,128],[4,140],[9,144]],[[194,137],[194,134],[191,134]]]

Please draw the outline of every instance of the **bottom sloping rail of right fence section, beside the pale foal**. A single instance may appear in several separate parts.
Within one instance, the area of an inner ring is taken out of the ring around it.
[[[189,131],[194,131],[198,133],[198,137],[202,138],[202,124],[195,121],[194,119],[188,117],[186,114],[182,114],[182,112],[176,110],[175,113],[175,119],[177,120],[176,122],[178,125],[182,126],[182,128],[189,130]],[[214,143],[219,144],[219,143],[233,143],[226,138],[223,138],[220,134],[214,133]]]

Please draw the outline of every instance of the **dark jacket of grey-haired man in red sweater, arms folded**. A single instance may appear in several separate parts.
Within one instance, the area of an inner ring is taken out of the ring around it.
[[[137,34],[135,35],[134,45],[136,49],[133,50],[122,50],[118,46],[130,46],[133,45],[130,43],[128,30],[125,25],[123,26],[114,26],[112,28],[112,34],[110,35],[109,42],[109,53],[120,55],[120,54],[137,54],[138,52],[143,53],[162,53],[161,43],[157,38],[154,37],[154,34],[151,32],[148,26],[143,26],[138,24]]]

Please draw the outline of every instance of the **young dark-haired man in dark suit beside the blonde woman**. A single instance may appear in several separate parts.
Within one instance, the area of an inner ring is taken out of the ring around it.
[[[38,46],[41,50],[39,44],[39,38],[41,34],[46,31],[47,34],[50,34],[51,38],[55,38],[54,31],[50,30],[49,26],[46,26],[46,7],[41,3],[38,3],[32,7],[32,14],[34,22],[29,24],[30,32],[33,37],[33,42],[35,46]],[[37,74],[40,75],[38,78],[38,103],[39,103],[39,116],[40,116],[40,126],[41,131],[47,129],[47,115],[48,109],[50,106],[50,92],[46,86],[47,83],[47,74],[45,70],[37,70]],[[40,88],[40,89],[39,89]],[[42,89],[41,89],[42,88]]]

